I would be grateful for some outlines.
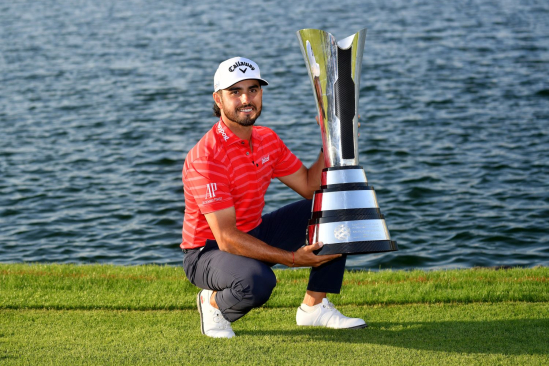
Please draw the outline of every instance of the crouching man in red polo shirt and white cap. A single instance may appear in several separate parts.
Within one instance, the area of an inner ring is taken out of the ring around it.
[[[262,85],[268,83],[255,62],[242,57],[222,62],[213,93],[220,119],[185,159],[181,247],[187,277],[203,289],[197,297],[202,333],[233,337],[231,322],[271,296],[276,285],[271,266],[277,263],[312,267],[298,325],[363,328],[362,319],[343,316],[326,298],[341,289],[346,257],[315,255],[322,243],[304,246],[323,156],[307,169],[276,133],[254,126]],[[262,217],[272,178],[305,199]]]

